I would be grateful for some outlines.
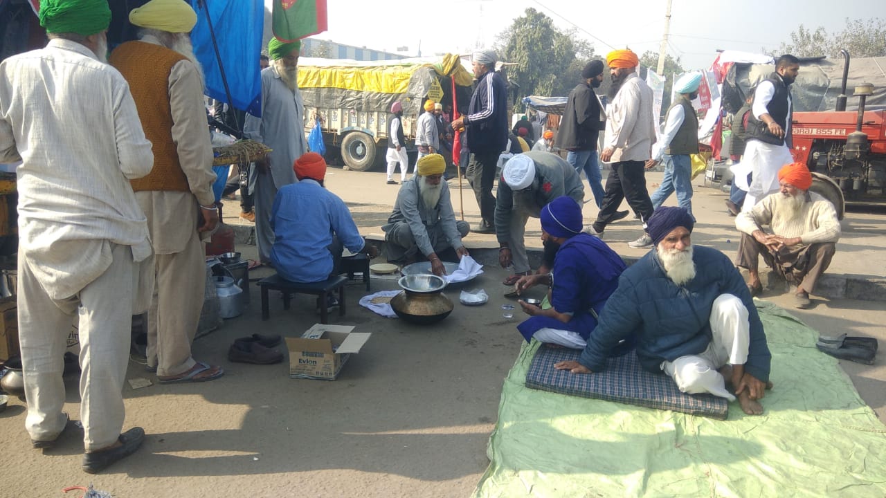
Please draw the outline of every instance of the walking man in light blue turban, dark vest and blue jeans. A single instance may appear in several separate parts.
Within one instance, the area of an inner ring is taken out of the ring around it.
[[[667,112],[662,136],[652,148],[652,159],[646,161],[646,169],[652,169],[664,160],[664,179],[650,197],[653,209],[658,209],[676,191],[680,207],[692,215],[692,160],[689,154],[698,153],[698,118],[692,100],[698,97],[700,82],[701,73],[688,73],[674,83],[678,97]]]

